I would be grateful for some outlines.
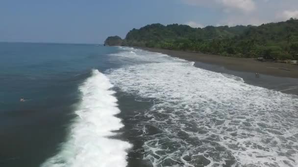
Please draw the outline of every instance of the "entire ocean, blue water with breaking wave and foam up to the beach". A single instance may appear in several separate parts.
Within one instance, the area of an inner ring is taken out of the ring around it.
[[[0,60],[0,167],[298,166],[297,95],[131,47],[2,42]]]

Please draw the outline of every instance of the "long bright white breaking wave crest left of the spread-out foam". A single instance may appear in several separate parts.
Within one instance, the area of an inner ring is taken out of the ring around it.
[[[110,139],[111,132],[123,127],[113,85],[98,70],[92,71],[80,87],[82,101],[75,111],[77,118],[61,151],[41,167],[125,167],[127,142]]]

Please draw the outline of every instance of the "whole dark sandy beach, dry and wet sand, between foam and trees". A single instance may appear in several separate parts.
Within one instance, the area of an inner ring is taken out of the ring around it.
[[[298,95],[298,65],[259,62],[253,59],[223,57],[156,48],[141,48],[195,62],[195,66],[209,71],[232,74],[252,85]],[[278,68],[290,69],[290,71]],[[255,73],[260,77],[256,78]]]

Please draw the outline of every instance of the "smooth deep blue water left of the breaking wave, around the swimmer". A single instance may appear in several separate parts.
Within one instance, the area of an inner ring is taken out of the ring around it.
[[[0,167],[37,167],[64,141],[92,69],[119,64],[115,47],[0,43]],[[19,102],[24,97],[25,102]]]

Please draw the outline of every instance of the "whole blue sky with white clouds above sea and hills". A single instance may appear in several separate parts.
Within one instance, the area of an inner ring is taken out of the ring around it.
[[[0,0],[0,42],[103,43],[151,23],[260,25],[298,18],[298,0]]]

